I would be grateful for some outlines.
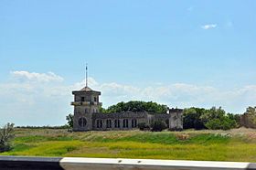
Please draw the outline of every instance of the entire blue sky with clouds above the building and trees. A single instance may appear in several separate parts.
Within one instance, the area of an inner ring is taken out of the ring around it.
[[[256,105],[256,1],[1,0],[0,125],[61,125],[72,90],[103,107]]]

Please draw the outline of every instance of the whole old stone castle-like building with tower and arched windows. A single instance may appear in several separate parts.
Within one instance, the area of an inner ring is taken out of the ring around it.
[[[91,90],[87,85],[72,91],[74,101],[73,131],[112,131],[137,129],[138,124],[150,125],[154,121],[165,122],[169,130],[183,129],[183,110],[169,109],[167,113],[154,112],[113,112],[101,113],[101,91]]]

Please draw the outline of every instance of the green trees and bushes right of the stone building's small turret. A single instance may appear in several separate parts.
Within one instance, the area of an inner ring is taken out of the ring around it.
[[[229,130],[239,128],[256,128],[256,107],[248,107],[243,114],[227,113],[221,107],[188,108],[183,114],[184,129]]]

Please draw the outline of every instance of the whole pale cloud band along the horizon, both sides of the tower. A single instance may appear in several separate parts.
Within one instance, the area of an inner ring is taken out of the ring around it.
[[[15,122],[16,125],[56,125],[66,122],[65,116],[72,112],[72,90],[80,90],[85,82],[73,85],[41,83],[63,80],[52,73],[13,71],[13,79],[0,83],[0,125]],[[54,75],[54,76],[52,76]],[[19,79],[25,81],[16,81]],[[101,101],[108,107],[119,101],[156,101],[169,107],[222,106],[228,112],[244,112],[246,107],[256,105],[256,85],[233,90],[220,90],[211,86],[175,83],[154,84],[144,88],[116,82],[100,83],[89,78],[93,90],[101,90]]]

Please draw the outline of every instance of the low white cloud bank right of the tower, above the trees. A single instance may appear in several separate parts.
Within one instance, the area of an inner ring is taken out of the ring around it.
[[[92,87],[101,90],[103,106],[119,101],[157,101],[170,107],[206,107],[222,106],[228,112],[243,112],[249,105],[256,105],[255,86],[246,86],[234,90],[219,90],[211,86],[175,83],[160,86],[137,88],[118,83],[103,83]]]

